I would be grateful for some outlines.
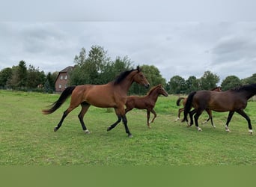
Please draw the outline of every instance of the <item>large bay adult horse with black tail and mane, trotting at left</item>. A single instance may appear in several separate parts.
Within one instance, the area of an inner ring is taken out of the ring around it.
[[[78,85],[67,87],[51,106],[52,108],[43,110],[43,114],[51,114],[57,110],[71,95],[70,106],[64,111],[58,126],[55,126],[54,131],[56,132],[63,123],[67,114],[73,111],[74,108],[79,105],[82,109],[78,115],[79,121],[82,125],[82,129],[85,133],[90,133],[85,126],[84,116],[91,105],[100,108],[114,108],[115,114],[118,116],[118,120],[108,127],[107,131],[113,129],[118,123],[123,120],[125,130],[128,137],[132,137],[127,126],[127,117],[125,115],[124,105],[127,101],[127,92],[132,85],[132,82],[136,82],[139,85],[149,88],[150,84],[147,81],[144,74],[141,72],[141,68],[137,67],[135,70],[128,70],[121,73],[114,81],[107,83],[106,85]]]

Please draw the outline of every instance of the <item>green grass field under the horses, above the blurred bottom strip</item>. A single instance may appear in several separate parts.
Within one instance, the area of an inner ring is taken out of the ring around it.
[[[53,132],[69,101],[53,114],[43,115],[41,109],[58,96],[0,91],[0,165],[256,165],[256,136],[249,135],[239,114],[231,120],[230,133],[225,132],[227,112],[213,112],[216,129],[207,123],[198,132],[195,126],[174,122],[177,96],[161,96],[152,129],[147,128],[145,111],[127,114],[133,138],[127,138],[121,123],[107,132],[117,120],[115,113],[95,107],[85,114],[91,134],[82,132],[80,108]],[[256,102],[249,102],[246,113],[256,129]],[[206,118],[204,113],[199,121]]]

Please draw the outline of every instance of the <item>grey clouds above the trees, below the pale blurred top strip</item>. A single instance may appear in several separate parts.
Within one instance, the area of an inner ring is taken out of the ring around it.
[[[98,45],[112,59],[155,65],[167,81],[207,70],[245,78],[255,73],[255,31],[256,22],[0,22],[0,70],[21,60],[62,70]]]

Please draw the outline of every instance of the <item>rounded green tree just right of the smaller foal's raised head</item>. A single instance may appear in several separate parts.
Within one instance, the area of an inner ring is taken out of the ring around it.
[[[171,93],[185,93],[186,82],[181,76],[173,76],[168,82]]]

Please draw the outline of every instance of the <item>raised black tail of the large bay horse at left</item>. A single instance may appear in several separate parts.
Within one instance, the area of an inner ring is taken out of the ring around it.
[[[52,108],[46,109],[46,110],[42,110],[43,114],[52,114],[52,112],[54,112],[55,110],[57,110],[58,108],[61,107],[61,105],[66,101],[67,97],[69,97],[71,95],[71,93],[73,92],[73,90],[76,88],[76,86],[70,86],[67,87],[62,93],[61,96],[58,98],[57,101],[53,102]]]

